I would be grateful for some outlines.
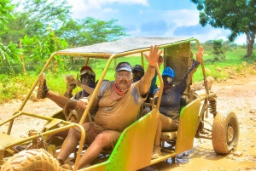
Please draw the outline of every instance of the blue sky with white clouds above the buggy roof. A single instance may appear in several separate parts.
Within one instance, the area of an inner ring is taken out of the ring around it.
[[[229,30],[201,26],[199,11],[189,0],[67,0],[72,6],[72,17],[97,20],[118,20],[131,37],[195,37],[207,40],[228,40]],[[235,43],[246,43],[246,36]]]

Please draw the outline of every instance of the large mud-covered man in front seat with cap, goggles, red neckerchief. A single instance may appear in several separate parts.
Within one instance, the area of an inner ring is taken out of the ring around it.
[[[120,62],[116,67],[115,81],[102,82],[92,103],[92,106],[99,107],[95,122],[85,136],[85,143],[90,146],[80,158],[79,168],[96,159],[102,149],[113,148],[122,131],[136,121],[140,106],[147,98],[160,54],[157,45],[151,46],[148,55],[144,54],[148,60],[148,69],[142,79],[136,83],[132,83],[132,68],[128,62]],[[77,107],[84,110],[89,100],[90,96],[80,99]],[[84,129],[88,130],[89,125],[90,123],[84,123]],[[75,150],[80,138],[80,133],[74,128],[69,130],[57,157],[61,165]]]

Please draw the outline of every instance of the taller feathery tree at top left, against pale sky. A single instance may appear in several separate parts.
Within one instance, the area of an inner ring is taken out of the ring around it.
[[[9,20],[8,31],[0,36],[4,44],[19,43],[20,38],[47,35],[49,27],[58,30],[71,19],[67,0],[23,0],[15,4],[14,19]],[[20,10],[21,9],[21,10]],[[0,28],[1,32],[1,28]]]

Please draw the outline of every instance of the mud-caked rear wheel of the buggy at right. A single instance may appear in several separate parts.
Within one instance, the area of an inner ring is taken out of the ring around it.
[[[228,154],[239,140],[239,124],[234,112],[217,113],[212,125],[212,145],[217,154]]]

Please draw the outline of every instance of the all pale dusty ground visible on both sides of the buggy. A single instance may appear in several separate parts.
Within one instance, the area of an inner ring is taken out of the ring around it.
[[[256,76],[238,77],[225,83],[214,83],[212,90],[217,91],[218,111],[235,111],[240,123],[240,141],[237,153],[228,156],[217,156],[212,149],[211,140],[195,140],[194,148],[179,155],[172,163],[169,159],[154,166],[143,168],[145,171],[156,170],[256,170]],[[0,105],[0,122],[10,117],[19,109],[21,101]],[[28,101],[24,111],[49,116],[61,110],[50,100]],[[30,129],[40,129],[44,121],[28,117],[15,120],[12,133],[17,137],[26,137]],[[0,133],[7,132],[8,125],[0,127]]]

